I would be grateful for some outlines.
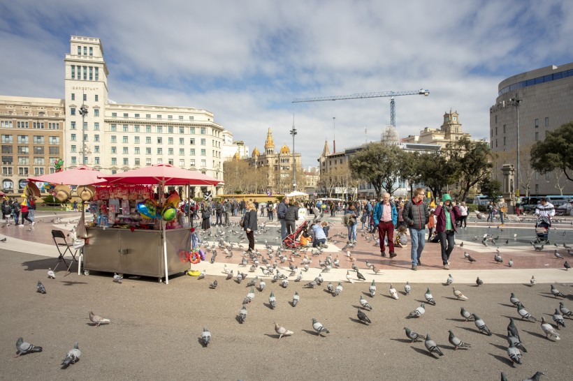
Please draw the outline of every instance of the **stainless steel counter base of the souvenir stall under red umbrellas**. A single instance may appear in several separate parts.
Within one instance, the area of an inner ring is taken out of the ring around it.
[[[134,230],[114,227],[86,227],[84,274],[90,270],[157,277],[166,274],[162,230]],[[189,228],[166,230],[167,274],[189,270],[179,253],[189,249]]]

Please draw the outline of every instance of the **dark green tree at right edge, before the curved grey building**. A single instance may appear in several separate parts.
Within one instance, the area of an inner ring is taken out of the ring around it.
[[[547,132],[531,149],[531,166],[540,173],[559,170],[573,181],[573,121]]]

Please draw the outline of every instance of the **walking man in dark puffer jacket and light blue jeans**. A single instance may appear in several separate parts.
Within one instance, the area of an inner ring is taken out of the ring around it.
[[[412,240],[412,270],[416,271],[418,265],[421,264],[420,257],[422,255],[423,247],[426,245],[426,225],[428,224],[430,215],[428,209],[423,203],[423,197],[426,192],[423,188],[416,188],[414,197],[410,202],[404,205],[402,210],[402,218],[406,225],[409,227],[410,239]]]

